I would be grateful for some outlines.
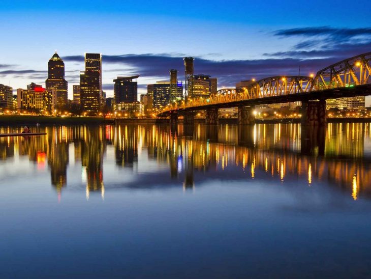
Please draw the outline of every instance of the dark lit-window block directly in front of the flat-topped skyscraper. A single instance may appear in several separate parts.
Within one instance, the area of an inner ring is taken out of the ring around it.
[[[100,109],[100,73],[80,72],[80,106],[88,114],[97,114]]]

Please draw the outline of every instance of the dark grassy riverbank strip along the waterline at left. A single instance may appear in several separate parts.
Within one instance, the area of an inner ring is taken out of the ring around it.
[[[114,123],[103,117],[47,117],[47,116],[0,116],[0,126],[14,125],[99,125]]]

